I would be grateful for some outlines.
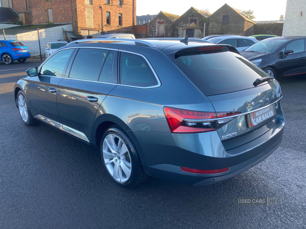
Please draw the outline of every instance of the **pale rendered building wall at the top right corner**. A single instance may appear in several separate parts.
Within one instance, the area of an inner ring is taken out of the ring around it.
[[[287,0],[283,36],[306,36],[306,0]]]

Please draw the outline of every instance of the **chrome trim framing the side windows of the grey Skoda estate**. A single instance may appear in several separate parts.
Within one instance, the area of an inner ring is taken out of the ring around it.
[[[39,67],[38,67],[38,72],[40,71],[42,65],[53,55],[55,55],[56,53],[58,53],[59,51],[65,50],[65,49],[70,49],[70,48],[99,48],[99,49],[106,49],[106,50],[113,50],[113,51],[120,51],[120,52],[127,52],[127,53],[131,53],[131,54],[135,54],[135,55],[139,55],[142,58],[145,59],[145,61],[147,62],[147,64],[149,65],[151,71],[153,72],[155,78],[157,79],[158,84],[157,85],[153,85],[150,87],[139,87],[139,86],[132,86],[132,85],[125,85],[125,84],[120,84],[120,83],[108,83],[108,82],[100,82],[100,81],[92,81],[92,80],[86,80],[86,79],[74,79],[74,78],[69,78],[69,77],[58,77],[58,76],[49,76],[48,77],[54,77],[54,78],[62,78],[62,79],[71,79],[71,80],[80,80],[80,81],[87,81],[87,82],[97,82],[97,83],[105,83],[105,84],[111,84],[111,85],[119,85],[119,86],[123,86],[123,87],[129,87],[129,88],[140,88],[140,89],[151,89],[151,88],[158,88],[162,85],[158,75],[156,74],[154,68],[152,67],[152,65],[150,64],[150,62],[148,61],[148,59],[146,58],[145,55],[140,54],[138,52],[133,52],[133,51],[127,51],[127,50],[122,50],[122,49],[115,49],[115,48],[105,48],[105,47],[67,47],[67,48],[63,48],[61,50],[56,51],[55,53],[53,53],[52,55],[50,55]],[[118,63],[119,64],[119,63]]]

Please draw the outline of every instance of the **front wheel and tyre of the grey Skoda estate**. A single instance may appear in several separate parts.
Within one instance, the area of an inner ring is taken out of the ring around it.
[[[39,121],[32,116],[28,101],[22,91],[19,91],[17,94],[16,104],[21,120],[25,125],[32,126],[39,123]]]

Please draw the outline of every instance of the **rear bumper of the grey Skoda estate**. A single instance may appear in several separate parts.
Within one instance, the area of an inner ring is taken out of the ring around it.
[[[284,132],[283,112],[275,126],[257,139],[237,147],[235,155],[226,152],[216,131],[198,134],[171,134],[133,131],[141,151],[145,172],[156,178],[199,186],[236,176],[271,155],[281,144]],[[239,149],[240,148],[240,149]],[[240,151],[241,153],[237,154]],[[187,173],[182,167],[211,170],[230,167],[220,174]]]

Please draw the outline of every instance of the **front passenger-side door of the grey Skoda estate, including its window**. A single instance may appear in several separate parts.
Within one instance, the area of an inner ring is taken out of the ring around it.
[[[29,95],[32,115],[42,121],[48,119],[49,124],[61,123],[56,101],[57,88],[73,51],[70,48],[54,54],[38,69],[38,76],[28,80],[26,94]]]

